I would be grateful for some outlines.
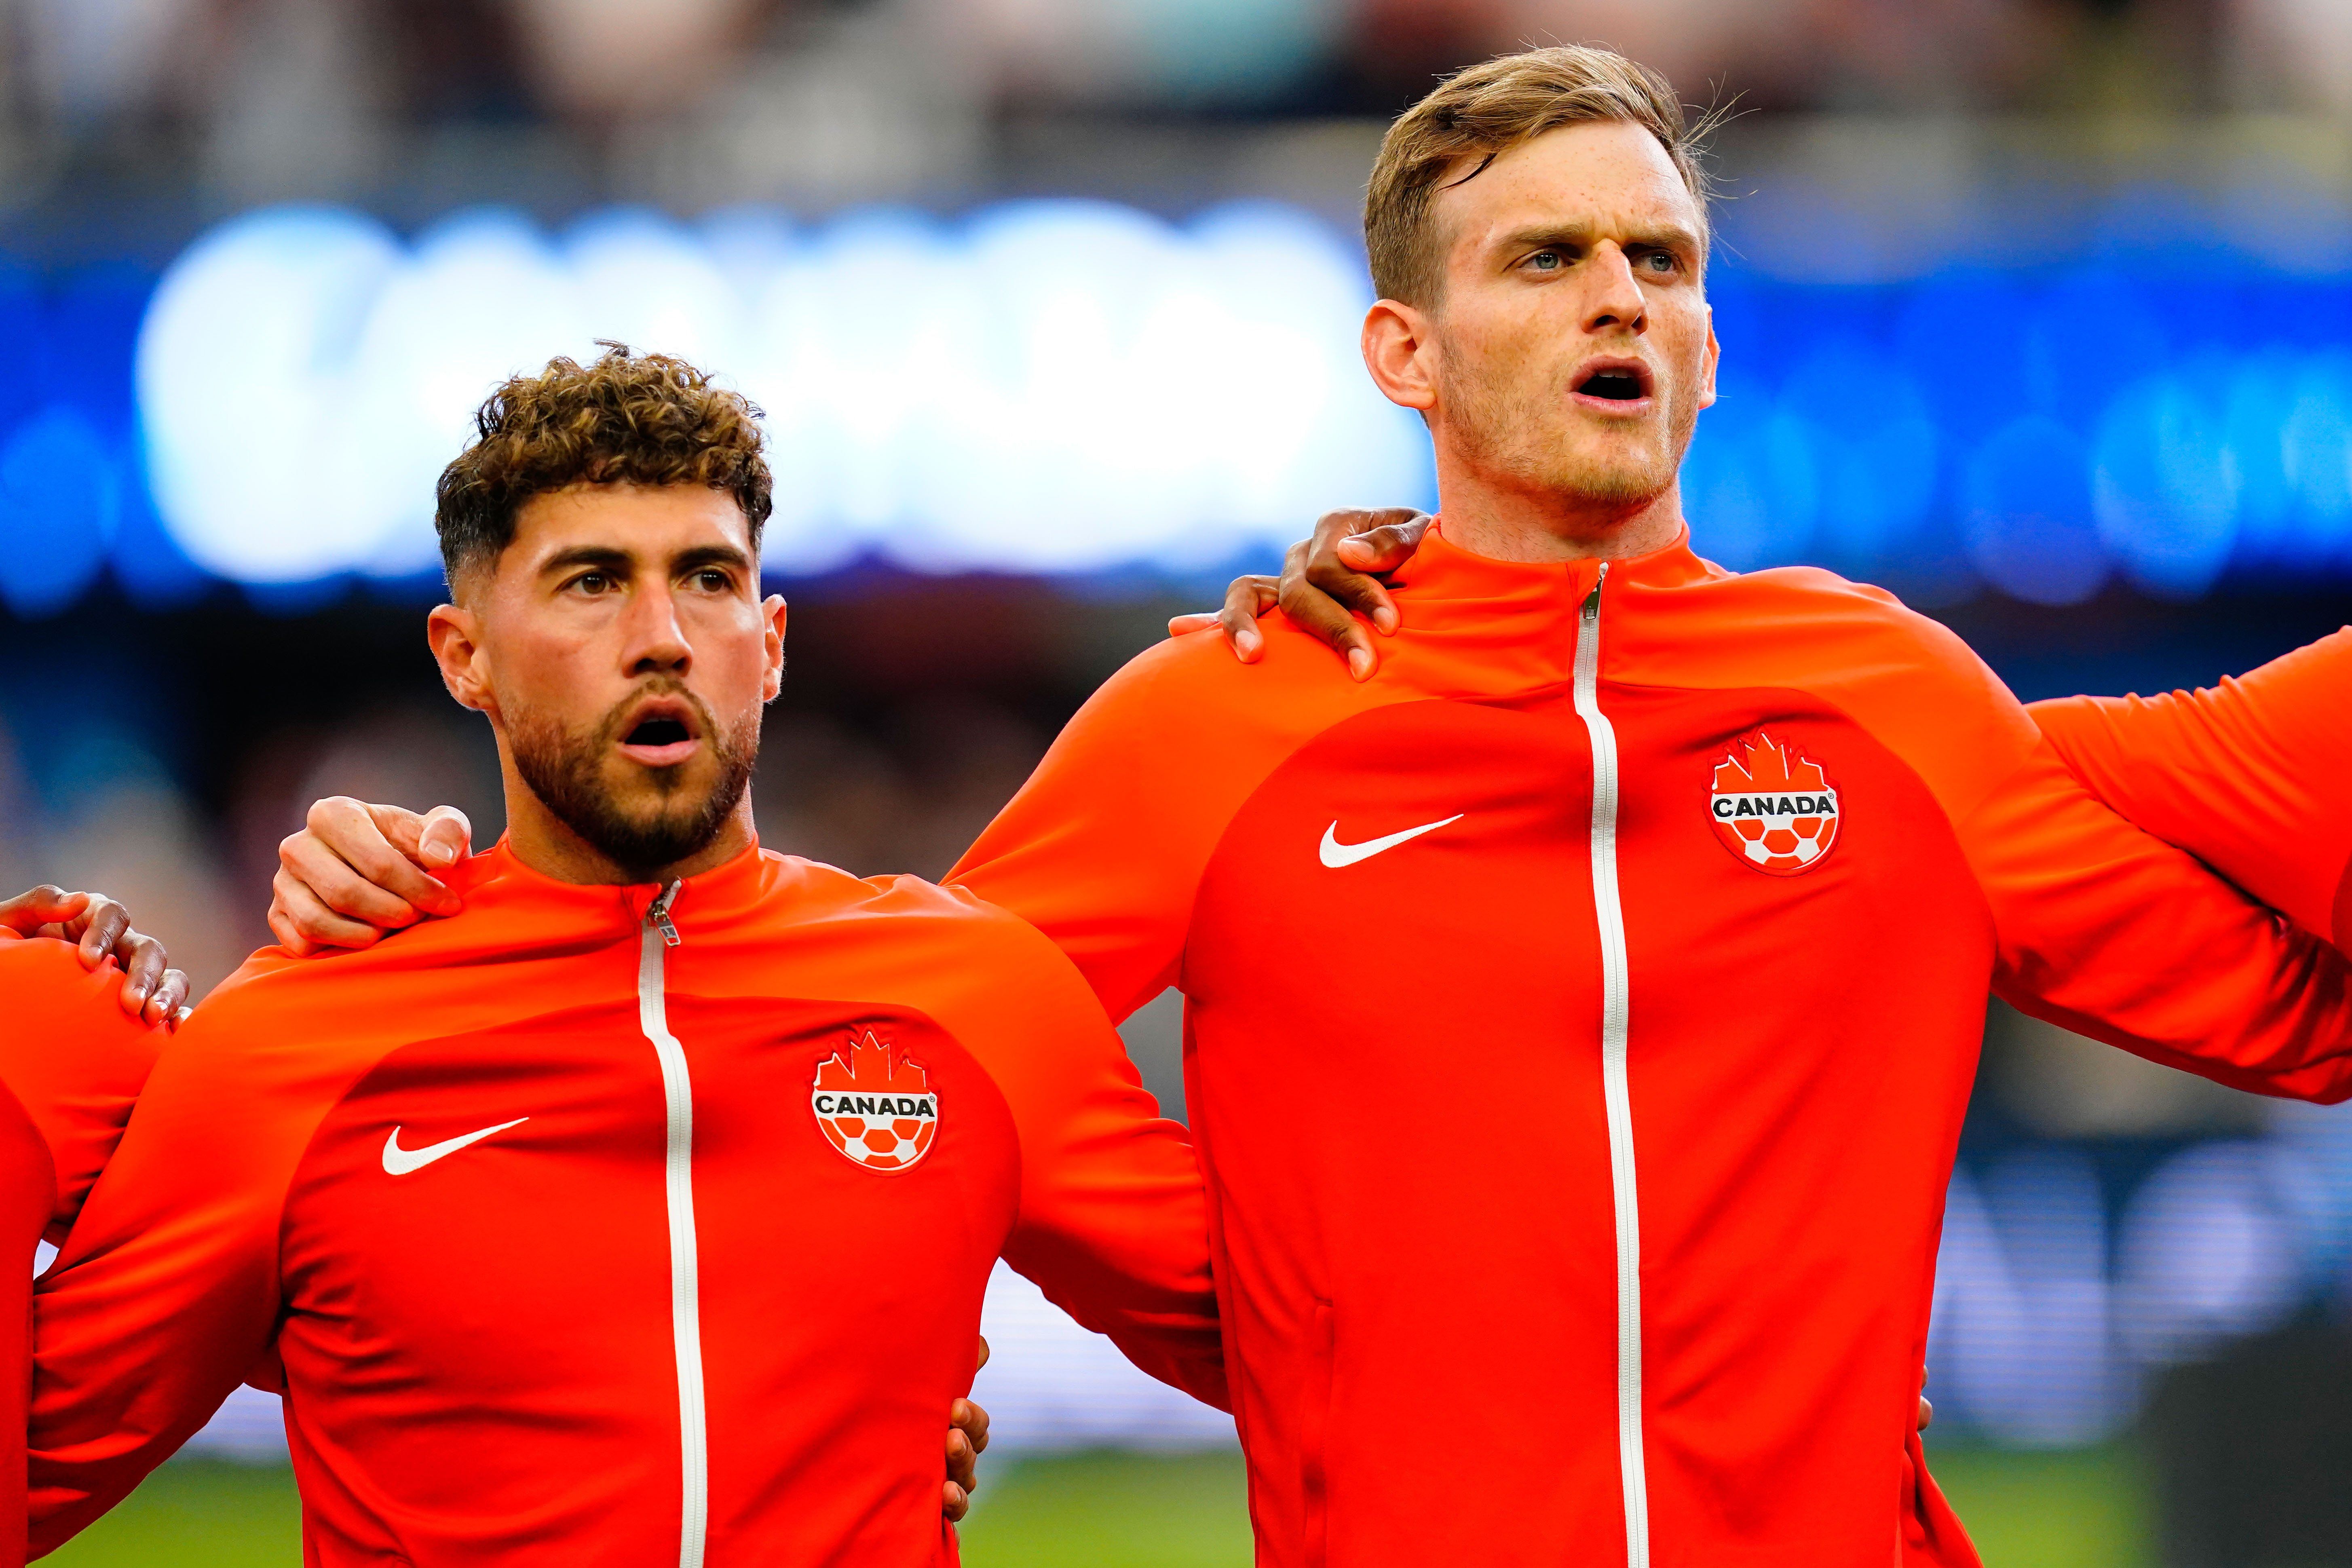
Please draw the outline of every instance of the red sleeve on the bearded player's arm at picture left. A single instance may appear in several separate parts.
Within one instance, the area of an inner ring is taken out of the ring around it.
[[[301,1128],[238,1051],[247,1009],[181,1027],[33,1295],[31,1547],[73,1537],[212,1418],[278,1316]]]

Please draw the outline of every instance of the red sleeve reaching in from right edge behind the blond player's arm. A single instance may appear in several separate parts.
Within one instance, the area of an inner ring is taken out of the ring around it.
[[[2352,952],[2352,628],[2218,686],[2030,712],[2103,802]]]

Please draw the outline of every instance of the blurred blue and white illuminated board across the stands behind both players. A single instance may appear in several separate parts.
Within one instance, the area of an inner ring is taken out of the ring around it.
[[[2352,576],[2352,277],[2267,277],[2293,299],[2277,336],[2223,341],[2213,280],[2263,261],[2169,233],[2126,212],[2053,275],[1719,261],[1722,400],[1684,475],[1700,552],[1922,604]],[[1357,362],[1369,296],[1350,240],[1270,202],[614,207],[553,235],[470,209],[412,240],[282,207],[200,237],[151,299],[134,273],[0,266],[0,505],[24,520],[0,590],[59,609],[103,562],[155,604],[207,576],[273,604],[428,583],[433,477],[475,404],[597,339],[769,411],[779,576],[1214,571],[1327,505],[1432,498],[1416,421]]]

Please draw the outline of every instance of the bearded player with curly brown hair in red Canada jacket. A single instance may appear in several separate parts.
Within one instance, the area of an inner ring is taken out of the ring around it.
[[[35,1549],[263,1366],[313,1563],[953,1561],[1000,1253],[1223,1403],[1192,1152],[1068,959],[755,842],[755,414],[621,348],[482,407],[428,639],[508,837],[158,1065],[35,1293]]]

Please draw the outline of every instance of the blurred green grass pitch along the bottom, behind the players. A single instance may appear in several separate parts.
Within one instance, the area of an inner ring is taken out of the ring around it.
[[[2129,1448],[1938,1450],[1936,1476],[1990,1568],[2145,1568],[2147,1488]],[[301,1528],[285,1469],[165,1465],[49,1559],[56,1568],[294,1568]],[[1247,1568],[1232,1453],[1082,1453],[997,1465],[964,1523],[969,1568]]]

